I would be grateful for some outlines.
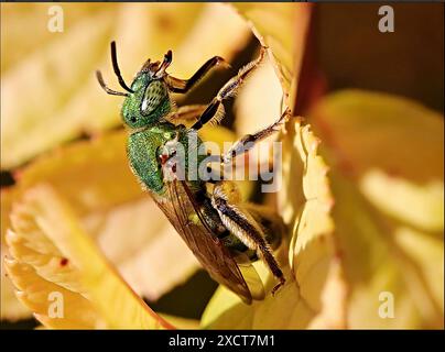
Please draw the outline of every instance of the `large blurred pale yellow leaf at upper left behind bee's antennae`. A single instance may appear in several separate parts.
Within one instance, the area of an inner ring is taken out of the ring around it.
[[[2,169],[17,167],[83,132],[95,134],[120,123],[121,100],[110,103],[112,98],[94,76],[100,68],[111,86],[116,82],[111,40],[118,43],[127,79],[146,58],[161,59],[167,50],[174,53],[171,73],[187,78],[214,55],[230,61],[249,35],[246,23],[217,3],[64,3],[66,21],[61,33],[47,30],[51,4],[1,7],[2,43],[14,46],[1,54]]]

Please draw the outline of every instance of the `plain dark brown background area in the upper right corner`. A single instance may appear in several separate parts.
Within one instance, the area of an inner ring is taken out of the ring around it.
[[[378,9],[394,9],[394,32]],[[444,109],[444,3],[323,3],[315,15],[318,62],[330,89],[402,95]]]

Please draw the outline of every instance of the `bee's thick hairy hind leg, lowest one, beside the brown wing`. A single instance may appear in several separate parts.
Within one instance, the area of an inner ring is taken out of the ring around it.
[[[211,206],[217,210],[224,226],[249,249],[257,251],[257,255],[264,261],[273,276],[280,280],[272,289],[272,294],[274,294],[285,283],[283,272],[272,254],[261,226],[240,205],[240,198],[234,183],[220,182],[215,185]]]

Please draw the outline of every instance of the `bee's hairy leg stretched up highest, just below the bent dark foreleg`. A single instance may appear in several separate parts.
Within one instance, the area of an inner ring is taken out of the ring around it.
[[[245,81],[247,76],[257,68],[262,58],[264,57],[265,50],[261,47],[260,56],[251,62],[250,64],[242,67],[238,75],[232,77],[221,89],[219,89],[218,95],[211,100],[211,102],[207,106],[207,109],[199,117],[198,121],[192,127],[194,130],[199,130],[204,124],[209,122],[210,120],[219,122],[224,117],[224,106],[223,101],[227,98],[234,97],[237,94],[238,88]]]

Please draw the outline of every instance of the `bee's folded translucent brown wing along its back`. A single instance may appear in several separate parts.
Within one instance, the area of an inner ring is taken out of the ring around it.
[[[170,201],[158,200],[158,204],[209,275],[247,304],[252,298],[264,298],[263,285],[254,267],[251,264],[238,266],[229,250],[210,230],[185,182],[174,179],[167,182],[166,187]],[[199,221],[191,220],[194,215]]]

